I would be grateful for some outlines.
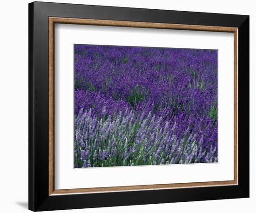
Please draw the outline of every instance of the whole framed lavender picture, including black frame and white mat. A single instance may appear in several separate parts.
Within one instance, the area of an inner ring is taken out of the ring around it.
[[[249,197],[249,16],[29,4],[29,209]]]

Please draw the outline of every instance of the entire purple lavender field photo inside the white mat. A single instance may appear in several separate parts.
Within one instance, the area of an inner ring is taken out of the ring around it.
[[[217,162],[217,50],[74,45],[74,166]]]

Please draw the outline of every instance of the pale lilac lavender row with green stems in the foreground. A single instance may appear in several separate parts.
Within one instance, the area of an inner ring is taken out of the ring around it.
[[[206,135],[190,125],[179,131],[179,120],[162,122],[128,108],[107,119],[81,110],[75,117],[75,167],[217,162],[216,129]]]

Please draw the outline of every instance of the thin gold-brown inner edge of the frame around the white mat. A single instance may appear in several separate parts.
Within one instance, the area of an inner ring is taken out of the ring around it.
[[[175,183],[175,184],[155,184],[140,186],[112,186],[96,188],[79,189],[59,189],[54,188],[54,24],[81,24],[112,27],[140,27],[157,29],[176,29],[176,30],[196,30],[212,32],[234,33],[234,180],[193,182],[193,183]],[[141,190],[160,190],[174,188],[191,188],[207,186],[231,186],[238,185],[238,28],[237,27],[217,27],[217,26],[199,26],[182,25],[168,23],[135,22],[135,21],[117,21],[117,20],[93,20],[93,19],[73,19],[73,18],[48,18],[48,100],[49,100],[49,196],[75,194],[75,193],[107,193]]]

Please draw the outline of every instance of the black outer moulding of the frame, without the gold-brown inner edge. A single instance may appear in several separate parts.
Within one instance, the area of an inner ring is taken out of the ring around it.
[[[47,211],[249,197],[249,16],[48,2],[33,2],[28,7],[30,210]],[[48,17],[238,27],[238,185],[49,196]]]

